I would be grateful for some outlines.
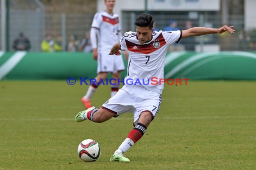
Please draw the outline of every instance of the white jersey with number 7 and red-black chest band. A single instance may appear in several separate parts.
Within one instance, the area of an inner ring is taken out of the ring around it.
[[[126,85],[143,85],[146,89],[161,94],[163,83],[156,85],[155,80],[163,79],[163,64],[168,47],[174,42],[178,43],[181,36],[182,32],[179,30],[160,30],[153,32],[149,42],[141,44],[136,32],[126,32],[120,40],[121,50],[129,51],[128,76],[125,77],[124,83]],[[154,81],[151,81],[152,78]]]

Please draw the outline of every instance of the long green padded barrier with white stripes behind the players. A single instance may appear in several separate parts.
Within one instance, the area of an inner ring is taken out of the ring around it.
[[[0,51],[0,80],[94,78],[96,71],[91,53]],[[256,52],[172,52],[166,56],[164,72],[165,78],[256,80]]]

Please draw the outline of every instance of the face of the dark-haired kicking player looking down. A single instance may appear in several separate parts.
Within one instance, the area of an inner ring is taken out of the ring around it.
[[[151,40],[153,29],[149,29],[148,26],[137,26],[137,37],[141,44],[144,44]]]

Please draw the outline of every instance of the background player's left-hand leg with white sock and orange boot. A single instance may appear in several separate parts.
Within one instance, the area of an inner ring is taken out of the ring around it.
[[[98,87],[97,82],[99,82],[101,79],[106,79],[107,72],[100,72],[98,73],[96,79],[96,83],[89,86],[87,93],[85,96],[81,99],[81,102],[84,104],[85,109],[88,109],[92,107],[91,105],[91,98],[93,97],[93,94],[96,92],[96,89]]]

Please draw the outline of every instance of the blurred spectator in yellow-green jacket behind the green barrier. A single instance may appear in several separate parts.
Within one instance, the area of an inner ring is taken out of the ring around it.
[[[61,51],[62,47],[53,41],[51,34],[47,34],[46,38],[41,42],[41,50],[44,52]]]

